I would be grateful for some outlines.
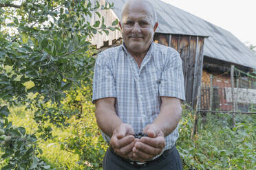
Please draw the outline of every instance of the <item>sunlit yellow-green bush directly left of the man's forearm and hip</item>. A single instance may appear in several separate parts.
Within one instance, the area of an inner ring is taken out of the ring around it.
[[[105,143],[94,117],[94,105],[87,101],[83,105],[83,114],[71,123],[72,137],[62,143],[62,149],[78,155],[78,164],[83,169],[102,169],[107,143]]]

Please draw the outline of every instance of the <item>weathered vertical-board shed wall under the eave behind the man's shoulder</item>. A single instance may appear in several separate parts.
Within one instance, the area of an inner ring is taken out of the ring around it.
[[[156,34],[154,41],[173,47],[180,53],[184,74],[186,102],[196,108],[200,96],[204,37],[176,34]],[[171,42],[171,44],[169,43]]]

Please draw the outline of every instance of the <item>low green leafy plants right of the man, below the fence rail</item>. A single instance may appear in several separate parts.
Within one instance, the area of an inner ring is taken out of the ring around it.
[[[177,148],[184,169],[255,168],[255,116],[237,114],[233,129],[228,125],[230,119],[229,114],[207,114],[207,122],[200,121],[199,132],[191,141],[193,115],[189,110],[183,111]]]

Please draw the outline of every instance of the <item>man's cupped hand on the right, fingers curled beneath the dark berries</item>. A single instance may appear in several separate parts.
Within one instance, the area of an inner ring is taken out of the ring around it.
[[[150,124],[144,128],[143,132],[147,133],[147,137],[136,139],[132,149],[132,159],[139,162],[151,160],[161,154],[165,147],[164,133],[160,127]]]

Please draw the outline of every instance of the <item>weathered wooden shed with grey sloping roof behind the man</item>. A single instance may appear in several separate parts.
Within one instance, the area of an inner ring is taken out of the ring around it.
[[[105,4],[105,1],[114,3],[114,9],[110,12],[100,12],[108,19],[106,25],[109,26],[114,19],[120,19],[126,0],[100,0],[100,3]],[[230,32],[163,1],[151,0],[151,3],[156,8],[159,23],[154,41],[173,47],[180,53],[186,102],[193,108],[197,104],[203,68],[226,71],[231,64],[243,71],[256,68],[256,55]],[[93,19],[96,21],[96,14]],[[120,38],[120,32],[115,31],[109,36],[97,35],[93,42],[97,48],[106,48]]]

